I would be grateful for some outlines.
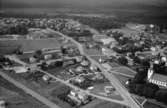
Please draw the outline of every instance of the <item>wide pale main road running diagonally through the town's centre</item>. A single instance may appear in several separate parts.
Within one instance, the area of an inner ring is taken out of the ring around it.
[[[120,95],[125,99],[125,101],[127,102],[128,106],[131,108],[141,108],[141,106],[139,106],[135,100],[131,97],[131,94],[122,86],[122,84],[118,81],[118,79],[111,73],[109,73],[108,71],[106,71],[97,61],[95,61],[94,59],[92,59],[91,57],[89,57],[89,55],[84,53],[83,47],[80,43],[78,43],[77,41],[75,41],[74,39],[62,34],[62,33],[58,33],[60,35],[62,35],[63,37],[65,37],[66,39],[72,41],[73,43],[75,43],[81,54],[85,55],[93,65],[98,66],[101,70],[102,73],[105,75],[106,78],[108,78],[108,80],[111,82],[111,84],[116,88],[116,90],[120,93]]]

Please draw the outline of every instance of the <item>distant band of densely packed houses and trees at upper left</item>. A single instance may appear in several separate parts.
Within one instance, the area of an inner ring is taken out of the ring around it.
[[[8,33],[10,27],[24,25],[28,28],[50,28],[58,31],[80,30],[81,24],[63,18],[0,18],[0,34]]]

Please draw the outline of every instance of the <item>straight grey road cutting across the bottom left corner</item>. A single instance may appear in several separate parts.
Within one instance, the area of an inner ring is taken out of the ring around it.
[[[5,74],[5,72],[0,71],[0,75],[3,78],[5,78],[6,80],[8,80],[9,82],[11,82],[12,84],[14,84],[16,87],[22,89],[24,92],[26,92],[27,94],[30,94],[32,97],[34,97],[37,100],[39,100],[40,102],[44,103],[48,107],[50,107],[50,108],[60,108],[58,105],[56,105],[55,103],[51,102],[47,98],[41,96],[40,94],[34,92],[33,90],[27,88],[25,85],[23,85],[20,82],[16,81],[12,77],[8,76],[7,74]]]

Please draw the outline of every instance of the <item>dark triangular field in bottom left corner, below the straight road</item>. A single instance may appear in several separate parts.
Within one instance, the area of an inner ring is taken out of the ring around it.
[[[0,82],[1,99],[9,103],[7,108],[48,108],[2,77]]]

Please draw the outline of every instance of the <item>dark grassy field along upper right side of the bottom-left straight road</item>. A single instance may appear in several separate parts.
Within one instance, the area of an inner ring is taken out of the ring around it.
[[[15,74],[15,73],[9,73],[6,72],[9,76],[17,80],[18,82],[21,82],[22,84],[26,85],[28,88],[32,89],[33,91],[39,93],[40,95],[48,98],[52,102],[56,103],[58,106],[61,106],[62,108],[71,108],[70,105],[66,102],[62,102],[57,97],[54,97],[51,95],[52,91],[60,88],[60,86],[64,85],[57,81],[52,81],[50,84],[47,82],[44,82],[42,78],[38,78],[38,80],[34,80],[32,78],[27,78],[28,74]],[[38,108],[38,107],[35,107]]]

